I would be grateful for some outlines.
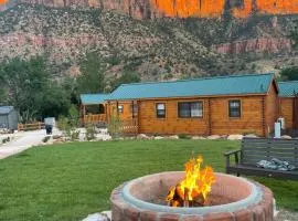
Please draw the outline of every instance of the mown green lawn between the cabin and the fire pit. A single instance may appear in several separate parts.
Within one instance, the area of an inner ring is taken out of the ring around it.
[[[110,191],[124,181],[182,170],[192,154],[224,170],[223,152],[237,141],[148,140],[74,143],[29,149],[0,160],[0,220],[81,220],[109,209]],[[280,207],[298,210],[298,182],[257,179]]]

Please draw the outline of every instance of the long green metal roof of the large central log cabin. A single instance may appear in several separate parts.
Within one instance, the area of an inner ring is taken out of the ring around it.
[[[107,99],[265,94],[274,74],[217,76],[175,82],[123,84]]]

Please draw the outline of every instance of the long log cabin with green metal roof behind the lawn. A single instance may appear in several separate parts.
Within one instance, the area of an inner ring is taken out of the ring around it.
[[[267,136],[279,117],[274,74],[124,84],[106,99],[138,134]]]

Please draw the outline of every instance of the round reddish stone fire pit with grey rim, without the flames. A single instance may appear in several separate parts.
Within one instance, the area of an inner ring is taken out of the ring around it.
[[[273,193],[256,182],[215,173],[206,207],[172,208],[164,198],[184,172],[162,172],[131,180],[110,197],[113,221],[273,221]]]

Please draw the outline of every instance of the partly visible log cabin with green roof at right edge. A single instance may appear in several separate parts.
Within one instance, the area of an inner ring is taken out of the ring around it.
[[[298,129],[298,81],[279,82],[279,113],[286,130]]]

